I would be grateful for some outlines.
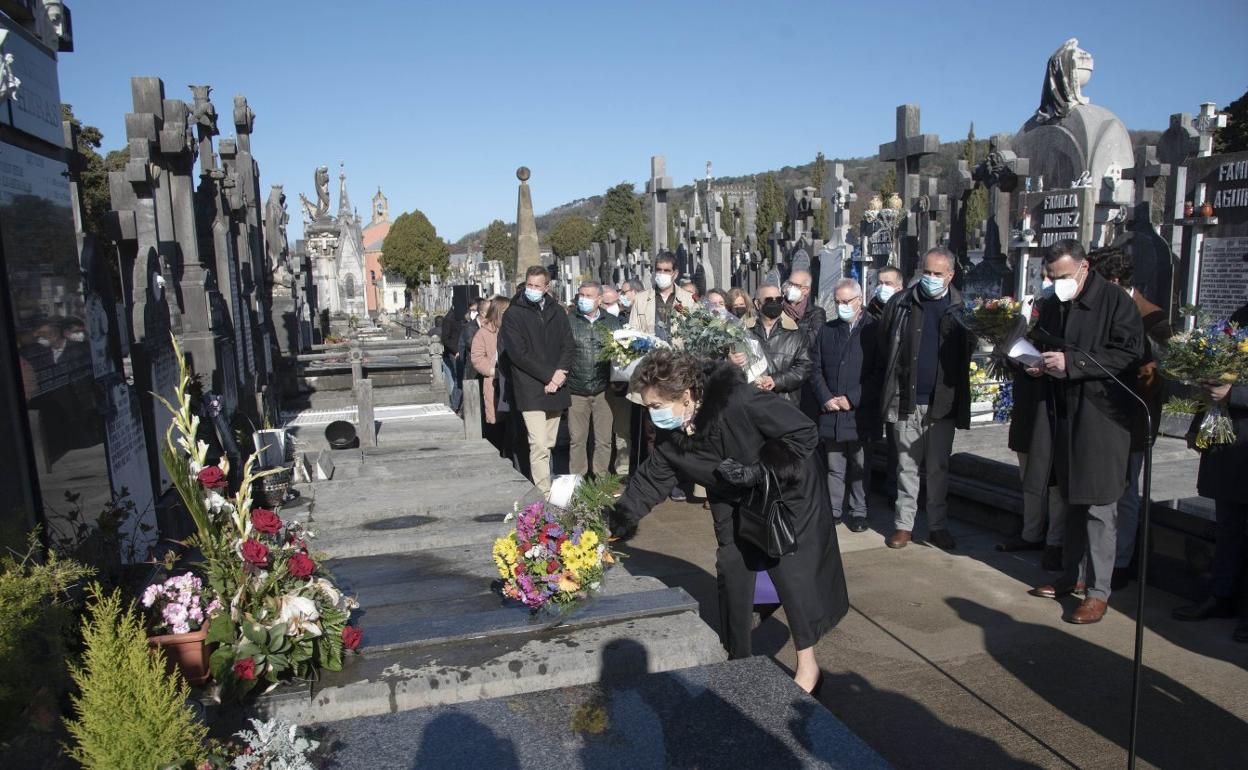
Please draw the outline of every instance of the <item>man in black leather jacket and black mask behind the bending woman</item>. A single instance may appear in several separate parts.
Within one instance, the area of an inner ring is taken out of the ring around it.
[[[759,341],[763,356],[768,359],[768,373],[755,379],[754,386],[797,406],[802,389],[810,384],[810,346],[806,344],[806,333],[784,313],[779,286],[760,286],[754,305],[759,312],[745,321],[745,329]],[[729,358],[738,366],[745,364],[744,353],[733,353]]]

